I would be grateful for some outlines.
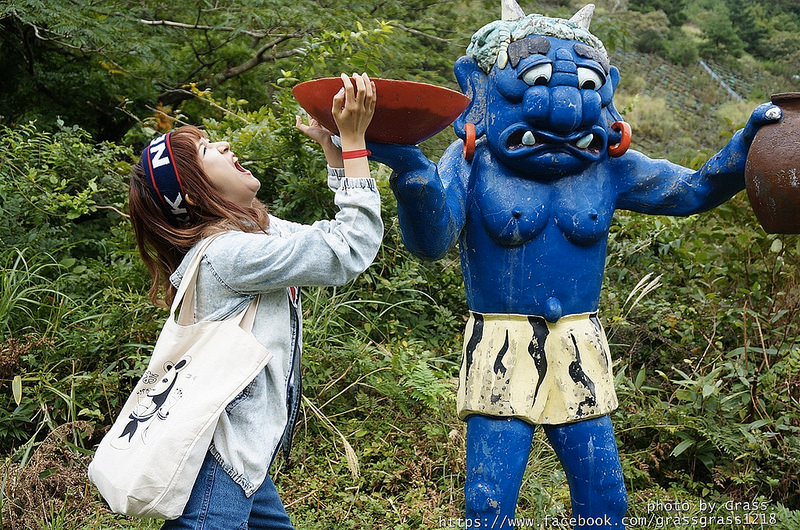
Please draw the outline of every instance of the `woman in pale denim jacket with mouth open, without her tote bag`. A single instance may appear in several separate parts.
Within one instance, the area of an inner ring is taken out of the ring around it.
[[[183,515],[163,528],[292,527],[268,471],[278,449],[289,449],[299,407],[298,287],[352,280],[375,258],[383,234],[364,149],[375,85],[366,74],[354,79],[355,87],[343,74],[333,98],[341,150],[315,120],[297,119],[328,162],[339,207],[330,221],[301,225],[269,215],[255,198],[260,182],[228,143],[210,142],[194,127],[151,142],[134,168],[130,213],[153,302],[171,303],[194,247],[224,232],[202,259],[195,320],[227,318],[259,296],[253,335],[274,356],[227,406]]]

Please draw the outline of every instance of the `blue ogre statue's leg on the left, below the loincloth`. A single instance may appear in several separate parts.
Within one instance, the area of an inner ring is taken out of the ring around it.
[[[482,528],[501,528],[514,517],[533,430],[513,418],[467,418],[467,519],[480,519]]]

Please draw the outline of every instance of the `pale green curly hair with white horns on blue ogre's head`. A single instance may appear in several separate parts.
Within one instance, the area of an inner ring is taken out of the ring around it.
[[[603,43],[589,32],[594,14],[594,4],[587,4],[569,20],[544,15],[525,15],[516,0],[502,0],[502,20],[495,20],[475,32],[467,47],[481,69],[488,73],[495,63],[503,69],[508,63],[508,45],[530,35],[544,35],[564,40],[575,40],[599,53],[599,59],[608,70],[608,52]]]

